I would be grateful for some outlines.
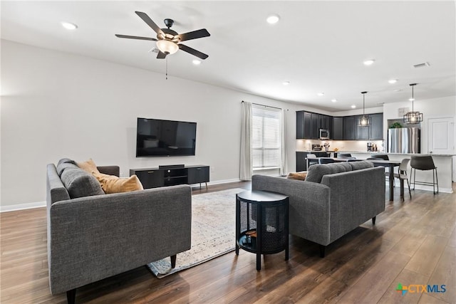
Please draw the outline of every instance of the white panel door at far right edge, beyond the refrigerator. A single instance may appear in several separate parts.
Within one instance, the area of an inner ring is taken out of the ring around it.
[[[453,117],[427,120],[427,151],[432,154],[455,153],[455,119]]]

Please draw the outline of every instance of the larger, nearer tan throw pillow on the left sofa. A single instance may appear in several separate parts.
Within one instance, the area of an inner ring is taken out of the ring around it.
[[[116,177],[103,173],[92,172],[93,176],[98,179],[101,188],[105,194],[130,192],[142,190],[142,184],[136,175],[131,177]]]

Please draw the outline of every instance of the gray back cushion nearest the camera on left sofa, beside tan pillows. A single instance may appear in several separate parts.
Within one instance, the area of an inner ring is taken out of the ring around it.
[[[98,180],[76,165],[75,167],[66,167],[62,172],[61,180],[72,199],[105,194]]]

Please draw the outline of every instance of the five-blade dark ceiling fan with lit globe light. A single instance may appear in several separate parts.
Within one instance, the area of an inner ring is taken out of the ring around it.
[[[159,49],[157,55],[158,59],[164,59],[168,54],[176,53],[179,49],[201,59],[206,59],[209,57],[208,55],[195,50],[195,48],[190,48],[190,46],[185,46],[185,44],[181,43],[182,41],[211,36],[206,28],[202,28],[197,31],[190,31],[188,33],[177,33],[171,29],[171,26],[174,23],[174,20],[172,19],[165,19],[165,26],[167,26],[167,28],[159,28],[157,24],[155,24],[155,22],[152,21],[149,16],[147,16],[147,14],[143,13],[142,11],[135,11],[135,13],[140,16],[140,19],[147,23],[147,25],[150,26],[150,28],[152,28],[155,33],[157,33],[157,38],[119,34],[115,34],[115,36],[118,38],[157,41],[157,48]]]

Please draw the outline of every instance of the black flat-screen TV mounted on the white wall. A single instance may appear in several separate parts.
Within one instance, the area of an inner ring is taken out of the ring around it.
[[[138,117],[136,157],[195,155],[196,122]]]

